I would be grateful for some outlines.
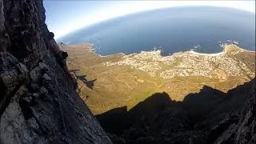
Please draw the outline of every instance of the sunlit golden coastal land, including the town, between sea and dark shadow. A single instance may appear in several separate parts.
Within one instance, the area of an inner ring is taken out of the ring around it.
[[[129,110],[158,92],[175,101],[203,86],[226,92],[255,77],[255,52],[235,44],[217,54],[189,50],[165,57],[160,50],[101,56],[90,43],[61,47],[70,54],[67,63],[78,78],[79,94],[94,114],[120,106]]]

